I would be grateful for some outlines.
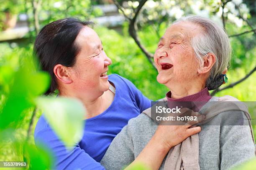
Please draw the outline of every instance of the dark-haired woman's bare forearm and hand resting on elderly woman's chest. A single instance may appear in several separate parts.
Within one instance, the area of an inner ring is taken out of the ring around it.
[[[158,170],[164,157],[169,152],[169,150],[178,145],[187,137],[199,133],[201,127],[191,127],[198,122],[201,122],[205,119],[204,115],[200,115],[198,112],[194,112],[188,108],[182,108],[181,113],[176,116],[190,116],[197,117],[195,121],[174,121],[172,124],[175,125],[163,125],[166,122],[161,122],[156,130],[156,133],[141,151],[138,157],[131,163],[127,168],[132,168],[136,163],[143,163],[147,165],[152,170]],[[169,122],[170,123],[170,122]],[[154,149],[152,149],[154,148]],[[157,155],[157,159],[156,159]],[[126,170],[126,169],[125,169]]]

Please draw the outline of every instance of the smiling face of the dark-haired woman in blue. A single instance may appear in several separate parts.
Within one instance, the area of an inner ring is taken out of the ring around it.
[[[83,93],[102,95],[109,89],[108,65],[110,58],[103,50],[102,42],[97,33],[84,27],[77,35],[76,42],[80,46],[76,63],[72,67],[74,87]]]

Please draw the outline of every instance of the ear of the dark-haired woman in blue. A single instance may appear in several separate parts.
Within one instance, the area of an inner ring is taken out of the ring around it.
[[[58,80],[65,84],[71,84],[73,82],[68,74],[68,68],[61,64],[54,66],[54,74]]]

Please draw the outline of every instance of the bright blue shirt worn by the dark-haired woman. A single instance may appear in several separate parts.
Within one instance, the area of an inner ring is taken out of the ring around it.
[[[113,82],[116,89],[113,102],[100,115],[84,120],[83,138],[71,152],[67,151],[44,115],[39,118],[34,133],[35,143],[51,150],[55,169],[104,170],[99,162],[112,140],[128,120],[151,106],[151,100],[129,80],[116,74],[109,75],[108,80]]]

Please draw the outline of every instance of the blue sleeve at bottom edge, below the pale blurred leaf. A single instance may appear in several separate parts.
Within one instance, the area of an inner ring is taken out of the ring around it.
[[[35,134],[35,143],[37,146],[51,150],[55,160],[53,169],[105,170],[100,163],[85,153],[78,144],[73,150],[68,151],[50,127],[44,128]]]

